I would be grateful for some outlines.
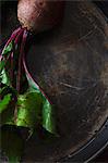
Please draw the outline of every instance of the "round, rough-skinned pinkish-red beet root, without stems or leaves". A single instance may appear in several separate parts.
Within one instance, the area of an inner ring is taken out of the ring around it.
[[[60,23],[63,9],[61,0],[19,0],[17,18],[23,27],[38,33]]]

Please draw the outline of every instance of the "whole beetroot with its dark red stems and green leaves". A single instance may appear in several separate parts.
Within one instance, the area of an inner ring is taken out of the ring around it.
[[[56,134],[52,103],[32,78],[25,63],[26,39],[29,32],[39,33],[60,23],[63,1],[19,0],[15,29],[0,53],[0,109],[13,109],[3,124],[13,124],[33,130],[36,124]],[[37,102],[37,103],[36,103]],[[10,104],[12,104],[10,106]]]

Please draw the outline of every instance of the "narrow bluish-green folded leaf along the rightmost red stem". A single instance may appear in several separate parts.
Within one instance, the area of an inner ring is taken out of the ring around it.
[[[27,82],[29,84],[29,89],[32,91],[36,91],[41,96],[41,126],[51,134],[56,133],[56,122],[55,122],[55,114],[53,114],[53,105],[49,103],[48,99],[43,95],[43,92],[39,90],[38,85],[27,76]],[[37,99],[38,100],[38,99]]]

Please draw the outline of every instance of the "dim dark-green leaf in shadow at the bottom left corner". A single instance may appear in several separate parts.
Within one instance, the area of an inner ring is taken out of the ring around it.
[[[24,141],[12,126],[4,126],[0,134],[0,148],[8,156],[9,163],[19,163],[24,149]]]

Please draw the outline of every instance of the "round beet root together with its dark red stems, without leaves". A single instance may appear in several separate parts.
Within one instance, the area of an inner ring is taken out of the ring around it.
[[[20,45],[20,55],[19,55],[19,71],[16,76],[16,89],[20,92],[21,89],[21,74],[22,65],[24,63],[24,47],[25,40],[29,32],[39,33],[45,29],[52,28],[55,25],[60,23],[63,15],[64,1],[61,0],[19,0],[17,4],[17,18],[22,25],[13,32],[10,39],[4,47],[14,40],[14,45]],[[5,48],[4,48],[5,49]],[[3,51],[2,51],[3,53]],[[10,76],[13,80],[13,52],[10,55],[11,70]],[[2,54],[0,55],[0,61],[2,60]],[[25,67],[25,66],[24,66]],[[26,72],[26,68],[25,68]]]

